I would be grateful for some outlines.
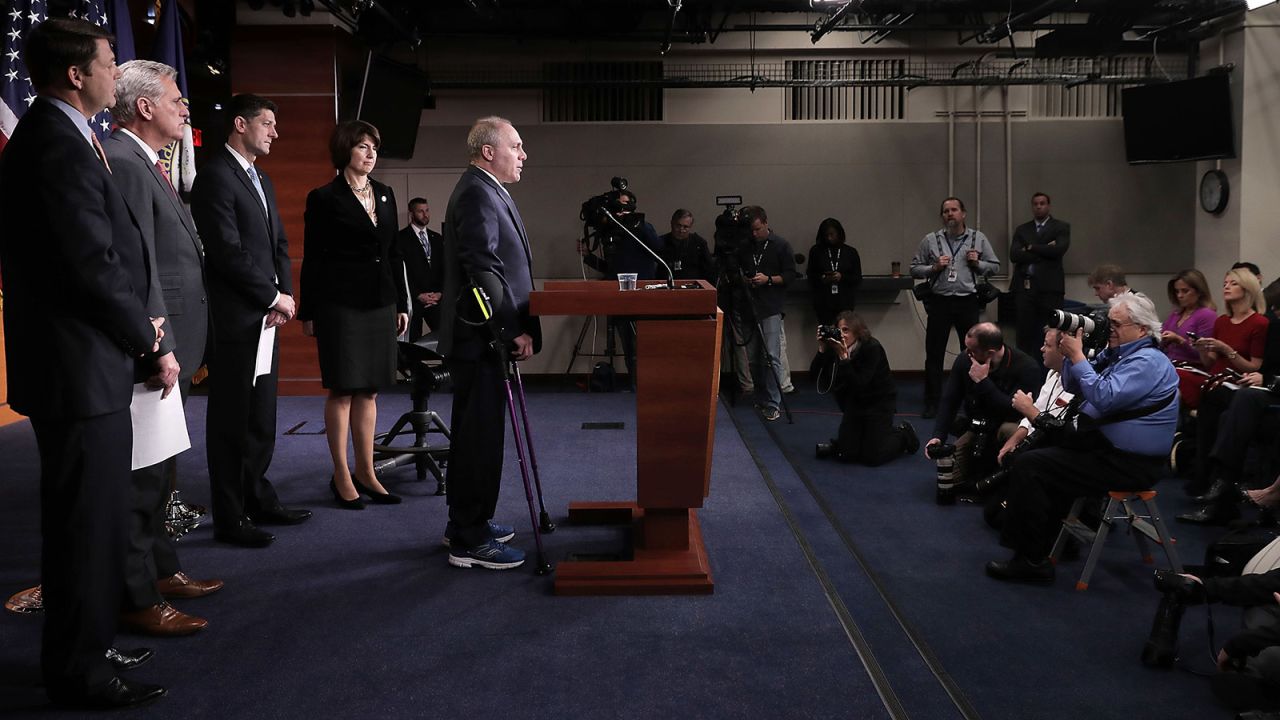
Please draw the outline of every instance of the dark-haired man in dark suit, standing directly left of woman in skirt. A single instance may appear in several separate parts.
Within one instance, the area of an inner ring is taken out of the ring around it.
[[[266,547],[275,536],[257,524],[296,525],[310,510],[280,505],[266,469],[275,451],[278,347],[271,369],[255,377],[259,338],[294,314],[293,277],[275,188],[255,167],[271,151],[275,102],[237,95],[227,108],[227,145],[196,177],[192,214],[205,242],[214,343],[209,361],[207,452],[214,538]]]

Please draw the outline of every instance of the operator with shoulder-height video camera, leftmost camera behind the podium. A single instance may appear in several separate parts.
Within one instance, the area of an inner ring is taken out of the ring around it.
[[[654,279],[658,277],[655,255],[663,250],[658,231],[645,222],[643,213],[636,211],[636,195],[627,188],[626,178],[616,177],[611,184],[612,191],[582,204],[581,219],[585,225],[582,240],[577,241],[582,263],[609,278],[620,273],[635,273],[639,281]],[[666,273],[663,268],[662,277]],[[609,315],[608,324],[609,332],[617,333],[622,341],[622,357],[627,364],[631,391],[635,391],[635,323],[630,318]]]

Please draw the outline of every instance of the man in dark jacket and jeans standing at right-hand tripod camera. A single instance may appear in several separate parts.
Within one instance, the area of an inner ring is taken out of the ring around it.
[[[750,288],[751,307],[756,327],[742,327],[746,336],[746,355],[755,380],[755,401],[765,420],[781,415],[782,387],[782,304],[786,286],[796,277],[796,261],[791,245],[773,234],[769,217],[759,205],[745,205],[739,217],[750,228],[750,240],[739,249],[739,266]],[[762,337],[763,333],[763,337]],[[773,373],[768,378],[767,373]]]

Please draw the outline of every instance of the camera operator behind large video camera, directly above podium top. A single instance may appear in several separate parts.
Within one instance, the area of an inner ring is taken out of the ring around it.
[[[618,181],[618,178],[614,178]],[[658,231],[653,229],[653,225],[644,220],[644,215],[639,215],[639,223],[636,223],[636,195],[626,188],[626,181],[616,182],[614,186],[621,186],[616,191],[608,193],[613,201],[608,211],[618,219],[620,223],[632,228],[636,238],[646,245],[649,250],[660,254],[663,250],[662,241],[658,238]],[[577,242],[577,251],[582,255],[582,261],[588,266],[603,273],[605,277],[612,277],[620,273],[635,273],[637,281],[654,279],[658,277],[658,261],[653,259],[653,255],[640,247],[635,240],[627,233],[622,232],[613,223],[607,219],[586,219],[596,231],[596,237],[600,238],[602,255],[595,255],[591,252],[590,246],[585,240]],[[608,324],[611,332],[617,333],[620,341],[622,341],[622,357],[627,364],[627,382],[631,386],[631,391],[635,392],[636,388],[636,327],[630,318],[623,318],[621,315],[609,315]]]

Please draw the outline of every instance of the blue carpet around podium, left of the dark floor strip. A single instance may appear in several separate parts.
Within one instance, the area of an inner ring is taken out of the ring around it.
[[[532,393],[531,420],[548,507],[635,495],[634,397]],[[381,425],[408,398],[385,396]],[[434,398],[447,415],[448,397]],[[282,398],[278,427],[320,429],[320,398]],[[204,400],[188,409],[197,447],[180,487],[207,503]],[[582,430],[623,420],[623,430]],[[29,428],[0,428],[0,588],[38,577],[37,468]],[[532,550],[508,442],[499,519]],[[177,603],[210,626],[188,638],[120,635],[156,659],[133,673],[170,696],[136,717],[886,717],[868,670],[832,612],[804,544],[726,411],[712,496],[701,512],[716,593],[709,597],[566,598],[550,580],[447,566],[434,483],[403,469],[387,484],[399,506],[332,506],[320,434],[278,441],[270,477],[311,521],[276,529],[266,550],[215,544],[202,527],[180,542],[184,568],[227,580]],[[819,518],[805,518],[820,520]],[[562,527],[547,537],[558,561],[617,543],[616,530]],[[829,544],[829,543],[828,543]],[[858,612],[856,607],[850,607]],[[0,711],[56,716],[38,678],[40,621],[0,615]],[[899,691],[909,694],[913,688]],[[922,714],[919,716],[941,716]]]

